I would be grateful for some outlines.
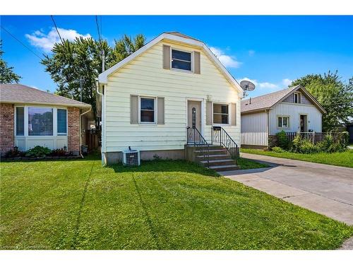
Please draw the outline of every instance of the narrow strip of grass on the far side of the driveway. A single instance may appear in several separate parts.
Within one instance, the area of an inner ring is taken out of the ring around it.
[[[347,150],[342,153],[313,153],[313,154],[304,154],[304,153],[276,153],[273,151],[263,151],[257,149],[245,149],[241,148],[243,153],[254,153],[256,155],[269,155],[275,156],[276,158],[289,158],[304,160],[314,163],[328,164],[328,165],[340,165],[341,167],[353,167],[353,150]]]

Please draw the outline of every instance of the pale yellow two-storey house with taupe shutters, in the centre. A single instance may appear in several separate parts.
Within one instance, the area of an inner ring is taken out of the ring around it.
[[[193,37],[162,33],[101,73],[97,88],[104,164],[121,160],[128,146],[145,160],[184,159],[187,126],[210,142],[217,124],[240,143],[243,90]]]

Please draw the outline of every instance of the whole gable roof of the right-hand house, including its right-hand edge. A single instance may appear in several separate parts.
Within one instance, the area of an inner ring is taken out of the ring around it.
[[[311,100],[313,105],[316,105],[318,110],[320,110],[322,113],[326,113],[323,106],[321,106],[321,104],[313,97],[313,95],[311,95],[308,90],[300,85],[251,98],[251,103],[250,99],[241,100],[241,113],[268,110],[275,106],[277,103],[282,102],[282,100],[285,100],[288,95],[299,89],[304,95],[306,95],[307,98],[309,98],[309,100]]]

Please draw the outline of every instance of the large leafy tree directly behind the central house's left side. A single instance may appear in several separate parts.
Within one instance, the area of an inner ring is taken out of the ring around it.
[[[46,55],[42,64],[58,86],[57,95],[80,100],[82,86],[82,101],[92,105],[96,113],[95,79],[102,73],[102,50],[105,66],[109,68],[143,47],[144,42],[143,35],[136,35],[133,41],[124,35],[115,41],[114,47],[110,47],[107,40],[83,37],[64,40],[54,45],[52,55]]]

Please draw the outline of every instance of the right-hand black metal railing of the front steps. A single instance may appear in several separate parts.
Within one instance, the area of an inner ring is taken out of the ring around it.
[[[238,162],[239,148],[237,143],[221,126],[212,126],[211,129],[211,144],[219,144],[224,146],[235,163]]]

